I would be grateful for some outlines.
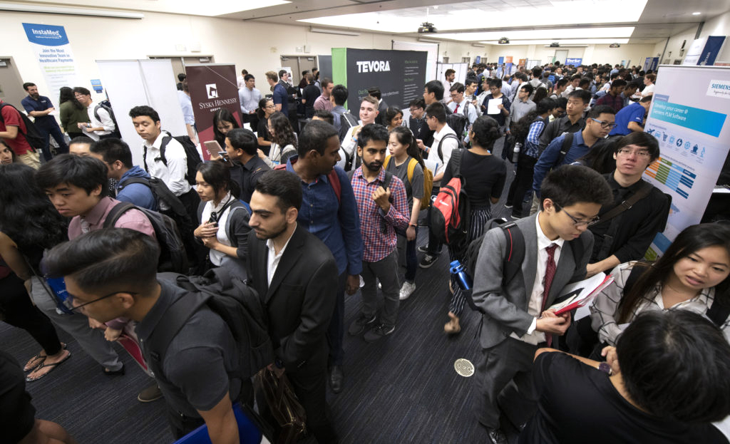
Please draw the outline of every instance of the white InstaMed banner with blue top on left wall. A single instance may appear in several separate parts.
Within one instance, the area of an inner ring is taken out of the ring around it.
[[[58,108],[58,90],[62,86],[73,88],[82,85],[77,77],[76,61],[66,30],[63,26],[35,23],[23,23],[23,29],[43,72],[48,88],[46,95]]]

